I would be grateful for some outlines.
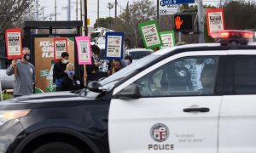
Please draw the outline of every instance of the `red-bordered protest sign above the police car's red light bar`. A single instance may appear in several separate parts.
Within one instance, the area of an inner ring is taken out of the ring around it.
[[[214,31],[224,31],[223,8],[207,8],[208,35]]]

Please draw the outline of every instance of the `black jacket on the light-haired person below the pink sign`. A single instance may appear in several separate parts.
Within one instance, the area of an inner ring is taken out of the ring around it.
[[[61,91],[73,91],[81,88],[84,88],[84,83],[76,76],[73,76],[73,80],[66,76],[61,82]]]

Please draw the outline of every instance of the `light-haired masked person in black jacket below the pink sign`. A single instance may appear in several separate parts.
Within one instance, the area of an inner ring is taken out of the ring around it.
[[[67,64],[66,71],[67,76],[61,82],[61,91],[73,91],[84,88],[84,83],[81,82],[79,77],[74,75],[74,65],[72,63]]]

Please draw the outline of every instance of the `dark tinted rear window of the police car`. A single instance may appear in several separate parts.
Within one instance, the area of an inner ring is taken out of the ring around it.
[[[256,94],[256,56],[236,57],[235,94]]]

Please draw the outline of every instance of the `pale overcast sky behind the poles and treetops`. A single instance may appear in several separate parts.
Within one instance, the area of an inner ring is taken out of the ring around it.
[[[71,20],[76,20],[76,2],[80,3],[80,0],[71,0]],[[118,0],[117,15],[122,13],[126,7],[127,2],[129,4],[140,1],[140,0]],[[152,0],[153,1],[153,0]],[[156,0],[155,4],[156,4]],[[203,0],[203,4],[216,4],[220,0]],[[67,20],[67,0],[56,0],[57,3],[57,20]],[[100,18],[105,18],[109,16],[109,9],[107,8],[108,3],[114,3],[115,0],[99,0],[100,2]],[[55,0],[38,0],[39,4],[39,15],[38,19],[43,20],[43,16],[47,17],[46,20],[49,20],[52,16],[52,20],[55,20]],[[90,26],[93,26],[97,19],[97,0],[87,0],[88,5],[88,16],[90,19]],[[65,8],[66,7],[66,8]],[[44,8],[44,9],[41,9]],[[80,6],[78,7],[80,8]],[[78,18],[80,19],[80,9]],[[51,14],[51,15],[50,15]],[[114,17],[114,8],[110,11],[110,16]]]

